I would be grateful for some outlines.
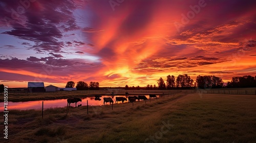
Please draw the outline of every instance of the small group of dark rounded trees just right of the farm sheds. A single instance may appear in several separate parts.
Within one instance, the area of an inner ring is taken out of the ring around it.
[[[73,81],[69,81],[66,84],[66,88],[73,88],[75,83]],[[99,83],[98,82],[90,82],[88,85],[86,82],[78,81],[76,84],[77,90],[99,90]]]

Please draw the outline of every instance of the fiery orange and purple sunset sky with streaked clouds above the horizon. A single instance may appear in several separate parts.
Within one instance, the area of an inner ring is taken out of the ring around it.
[[[24,3],[20,3],[24,2]],[[0,1],[0,84],[256,75],[256,1]]]

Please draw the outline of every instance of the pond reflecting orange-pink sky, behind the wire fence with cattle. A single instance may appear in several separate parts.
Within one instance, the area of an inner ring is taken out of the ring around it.
[[[138,95],[133,95],[133,96],[138,96]],[[88,105],[89,106],[101,106],[103,105],[103,98],[108,98],[111,96],[102,96],[99,99],[96,99],[95,97],[87,97],[87,98],[81,98],[82,102],[77,102],[77,106],[82,104],[82,106],[87,106],[87,100],[88,100]],[[113,101],[114,104],[116,102],[116,97],[125,97],[125,96],[114,96]],[[145,95],[147,99],[149,99],[149,95]],[[159,96],[157,95],[159,98]],[[39,101],[27,101],[27,102],[8,102],[8,110],[29,110],[29,109],[41,109],[42,108],[42,102],[44,102],[44,109],[49,109],[49,108],[58,108],[58,107],[67,107],[67,99],[59,99],[59,100],[39,100]],[[128,102],[124,101],[124,103]],[[121,104],[122,102],[118,102],[116,104]],[[4,103],[1,102],[1,105]],[[110,105],[110,103],[106,103],[106,105]],[[71,107],[75,107],[75,103],[70,104]],[[4,107],[0,109],[0,111],[4,111]]]

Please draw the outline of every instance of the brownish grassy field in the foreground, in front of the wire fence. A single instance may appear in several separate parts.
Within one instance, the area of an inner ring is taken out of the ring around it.
[[[158,101],[10,111],[1,142],[255,142],[256,97],[178,93]],[[3,116],[0,117],[3,121]],[[3,123],[1,123],[3,124]],[[2,130],[3,131],[3,130]]]

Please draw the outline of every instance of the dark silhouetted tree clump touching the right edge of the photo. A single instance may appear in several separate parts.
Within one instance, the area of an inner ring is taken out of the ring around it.
[[[231,82],[227,82],[227,88],[256,87],[256,76],[232,77]]]

